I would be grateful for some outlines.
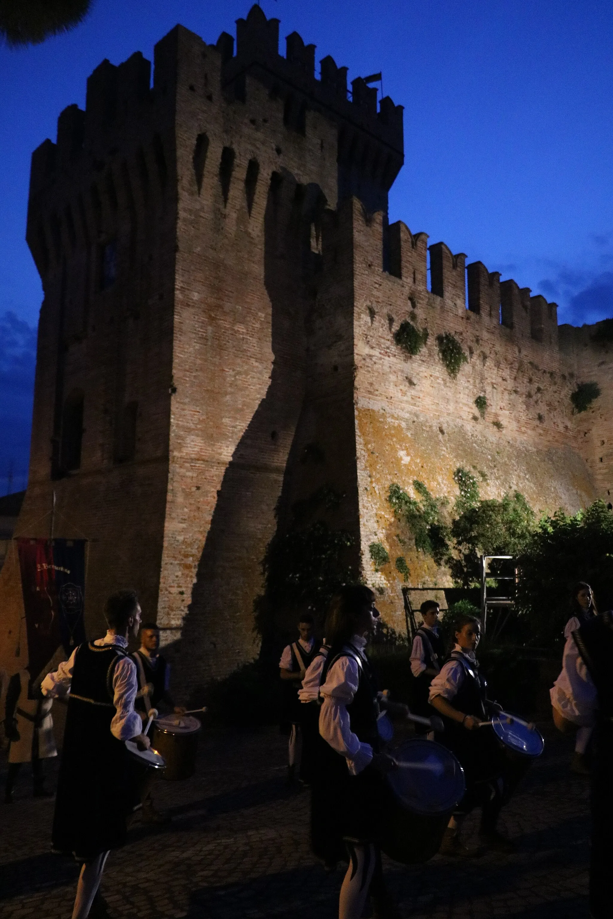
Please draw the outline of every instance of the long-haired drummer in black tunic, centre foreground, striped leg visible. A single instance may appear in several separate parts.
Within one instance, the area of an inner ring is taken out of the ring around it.
[[[319,761],[312,792],[312,844],[328,864],[349,856],[339,919],[359,919],[370,893],[375,915],[392,915],[380,860],[382,775],[396,767],[379,752],[379,694],[365,647],[379,612],[365,586],[333,598],[325,634],[330,651],[322,672]]]

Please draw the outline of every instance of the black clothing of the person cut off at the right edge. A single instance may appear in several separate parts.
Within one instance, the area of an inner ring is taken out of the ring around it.
[[[598,694],[594,762],[592,765],[592,845],[590,856],[590,911],[595,919],[609,919],[613,902],[613,616],[608,610],[590,618],[573,632],[573,640]]]

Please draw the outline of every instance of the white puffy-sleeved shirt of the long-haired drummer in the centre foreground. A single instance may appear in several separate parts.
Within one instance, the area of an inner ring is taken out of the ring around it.
[[[352,639],[358,647],[366,643],[359,641],[358,644],[357,638]],[[369,743],[362,743],[358,734],[352,732],[346,710],[358,691],[358,681],[359,671],[355,659],[339,657],[330,667],[320,689],[323,702],[319,714],[319,732],[336,753],[345,756],[352,776],[357,776],[372,759],[372,747]]]

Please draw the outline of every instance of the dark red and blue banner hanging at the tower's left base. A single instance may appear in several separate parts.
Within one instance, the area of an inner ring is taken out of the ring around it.
[[[62,647],[85,641],[85,539],[17,539],[28,632],[28,670],[35,682]]]

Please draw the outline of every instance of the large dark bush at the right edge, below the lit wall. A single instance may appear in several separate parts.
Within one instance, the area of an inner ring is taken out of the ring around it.
[[[598,608],[613,607],[613,514],[596,501],[573,516],[543,517],[517,563],[517,606],[530,617],[533,641],[562,641],[577,581],[592,585]]]

